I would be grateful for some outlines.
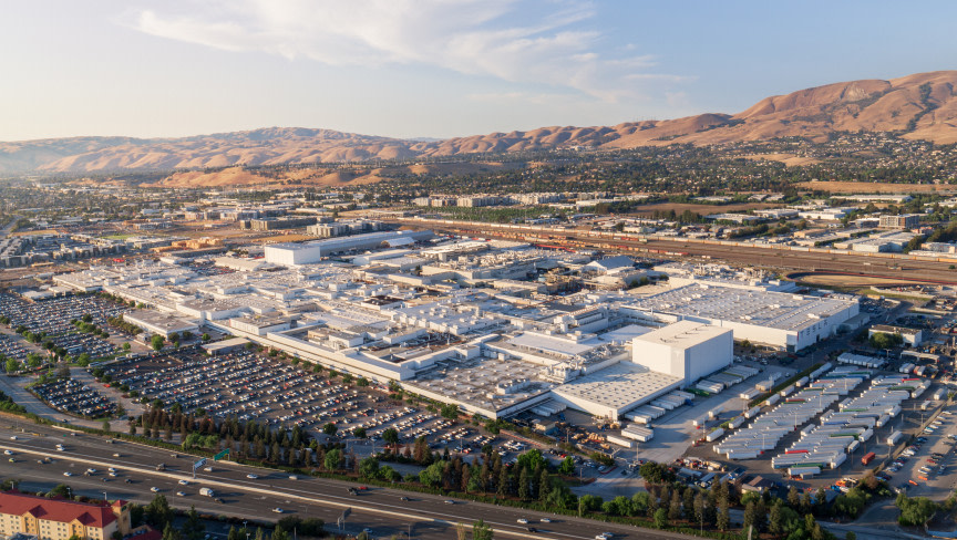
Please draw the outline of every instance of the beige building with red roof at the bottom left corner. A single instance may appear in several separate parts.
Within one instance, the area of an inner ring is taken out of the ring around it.
[[[128,534],[130,505],[73,502],[18,492],[0,494],[0,534],[32,534],[40,540],[106,540]]]

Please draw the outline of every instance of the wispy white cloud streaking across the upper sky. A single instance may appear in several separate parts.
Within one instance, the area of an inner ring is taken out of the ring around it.
[[[655,59],[628,46],[610,56],[573,0],[233,0],[137,12],[147,34],[225,51],[263,51],[328,65],[430,65],[512,83],[544,84],[614,103],[642,84]],[[521,23],[527,19],[533,22]]]

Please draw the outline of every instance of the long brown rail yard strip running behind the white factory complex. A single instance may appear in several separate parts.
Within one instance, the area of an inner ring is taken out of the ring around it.
[[[497,237],[515,239],[515,235],[523,238],[534,235],[532,231],[515,229],[501,229],[496,224],[477,226],[475,224],[462,224],[453,226],[449,224],[430,224],[429,221],[415,219],[393,219],[405,226],[414,226],[422,229],[431,229],[436,232],[449,232],[456,235]],[[544,233],[545,229],[539,233]],[[949,263],[937,261],[887,259],[881,257],[868,257],[866,255],[851,253],[820,253],[811,251],[791,251],[754,246],[720,246],[710,243],[691,242],[683,239],[651,240],[640,242],[636,240],[611,240],[608,238],[589,237],[584,231],[555,229],[548,233],[555,236],[547,243],[562,246],[567,242],[584,243],[590,249],[608,250],[601,246],[619,246],[635,255],[641,251],[658,250],[669,252],[682,252],[690,256],[707,256],[718,261],[727,261],[749,267],[775,268],[795,272],[837,272],[854,276],[879,277],[888,279],[901,279],[908,281],[926,281],[930,283],[957,284],[957,272],[949,269]],[[558,239],[562,237],[563,239]],[[527,239],[526,241],[539,242],[539,240]],[[649,253],[656,257],[657,253]]]

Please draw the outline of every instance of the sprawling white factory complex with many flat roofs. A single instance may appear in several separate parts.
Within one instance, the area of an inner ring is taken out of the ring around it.
[[[855,297],[728,269],[641,269],[429,231],[271,245],[265,259],[206,264],[91,267],[53,281],[135,301],[125,320],[146,339],[215,329],[490,418],[573,407],[617,419],[733,371],[734,340],[798,351],[858,314]],[[635,273],[656,283],[566,287]]]

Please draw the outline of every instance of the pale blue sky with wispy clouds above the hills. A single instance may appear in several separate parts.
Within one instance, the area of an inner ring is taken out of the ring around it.
[[[957,2],[10,0],[0,141],[444,138],[735,113],[950,70]]]

